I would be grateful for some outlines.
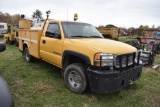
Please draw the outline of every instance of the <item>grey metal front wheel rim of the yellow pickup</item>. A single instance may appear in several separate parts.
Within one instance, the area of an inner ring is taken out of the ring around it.
[[[71,71],[68,75],[69,84],[73,88],[79,88],[81,86],[81,76],[76,71]]]

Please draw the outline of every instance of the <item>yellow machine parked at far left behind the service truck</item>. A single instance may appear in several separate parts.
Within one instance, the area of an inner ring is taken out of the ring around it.
[[[15,44],[18,46],[18,25],[8,25],[8,32],[4,34],[4,42],[8,44]]]

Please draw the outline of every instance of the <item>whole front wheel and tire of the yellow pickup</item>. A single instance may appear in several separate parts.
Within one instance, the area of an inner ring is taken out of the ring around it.
[[[82,94],[87,87],[84,66],[80,63],[69,65],[64,72],[64,81],[70,91]]]

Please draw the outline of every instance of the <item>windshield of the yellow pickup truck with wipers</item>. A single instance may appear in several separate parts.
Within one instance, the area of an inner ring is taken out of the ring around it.
[[[103,38],[92,25],[76,22],[62,22],[65,37],[68,38]]]

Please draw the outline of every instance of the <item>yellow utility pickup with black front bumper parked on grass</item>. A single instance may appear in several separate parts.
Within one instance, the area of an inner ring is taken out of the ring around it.
[[[38,58],[61,68],[67,88],[77,94],[88,86],[97,93],[115,92],[140,78],[136,48],[105,39],[91,24],[51,20],[48,14],[41,30],[18,30],[27,62]]]

